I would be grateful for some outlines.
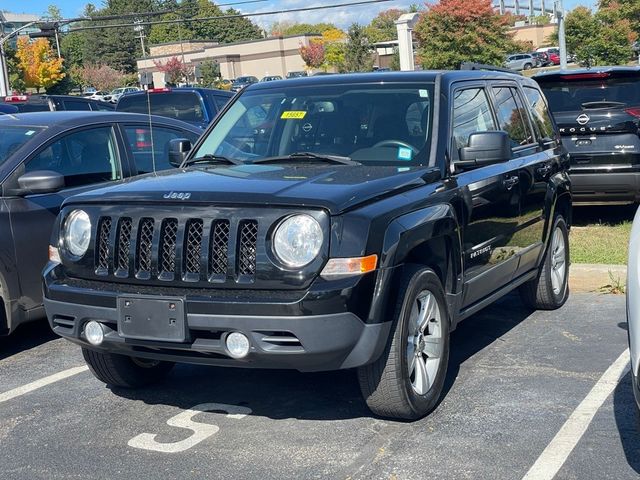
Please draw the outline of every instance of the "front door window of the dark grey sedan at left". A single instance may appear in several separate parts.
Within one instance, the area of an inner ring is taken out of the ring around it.
[[[121,179],[113,129],[89,128],[64,135],[25,165],[25,172],[38,170],[64,175],[67,187]]]

